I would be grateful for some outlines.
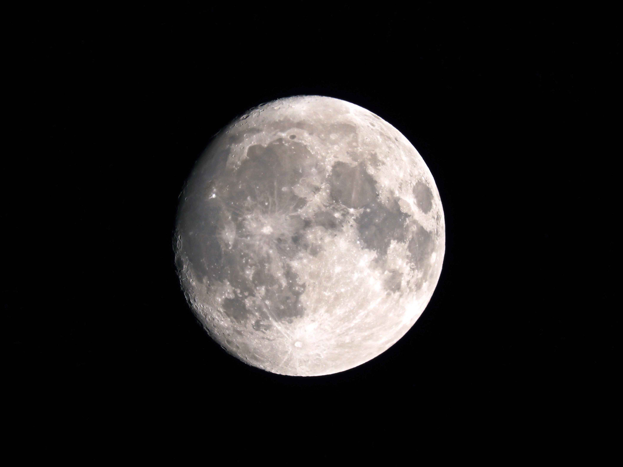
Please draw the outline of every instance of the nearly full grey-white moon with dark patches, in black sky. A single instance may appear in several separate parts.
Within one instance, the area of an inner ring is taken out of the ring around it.
[[[216,134],[180,196],[174,250],[186,298],[228,352],[325,375],[386,351],[422,314],[444,212],[396,128],[343,100],[297,96]]]

